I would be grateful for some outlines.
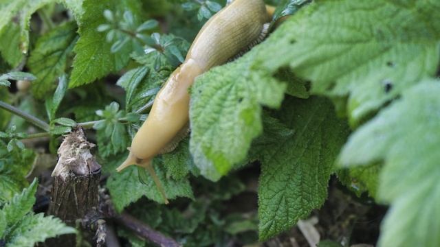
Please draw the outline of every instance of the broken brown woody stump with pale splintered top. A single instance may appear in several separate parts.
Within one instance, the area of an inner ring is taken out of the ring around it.
[[[93,215],[98,209],[101,166],[90,152],[93,147],[94,144],[87,141],[84,130],[77,128],[65,136],[58,148],[48,213],[70,226],[76,226],[77,220],[85,219],[87,214]],[[64,247],[76,245],[75,235],[62,235],[52,240],[47,244]]]

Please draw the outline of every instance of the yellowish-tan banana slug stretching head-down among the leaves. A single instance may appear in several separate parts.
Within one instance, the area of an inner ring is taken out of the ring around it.
[[[259,40],[269,21],[263,0],[235,0],[214,14],[197,34],[184,62],[157,93],[150,114],[133,138],[129,156],[116,170],[130,165],[145,167],[168,203],[151,161],[164,150],[172,150],[169,145],[175,145],[173,139],[188,132],[188,89],[197,75],[228,62]]]

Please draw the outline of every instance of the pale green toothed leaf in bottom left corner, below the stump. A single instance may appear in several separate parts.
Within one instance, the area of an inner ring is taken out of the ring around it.
[[[76,233],[75,228],[66,226],[58,218],[44,217],[43,213],[28,214],[21,219],[6,241],[8,247],[34,246],[50,237],[69,233]]]

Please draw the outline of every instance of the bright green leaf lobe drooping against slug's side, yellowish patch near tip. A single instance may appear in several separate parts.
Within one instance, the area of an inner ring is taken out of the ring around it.
[[[243,161],[261,134],[261,108],[278,108],[286,85],[261,69],[251,71],[261,46],[195,80],[191,89],[190,151],[201,174],[219,178]]]

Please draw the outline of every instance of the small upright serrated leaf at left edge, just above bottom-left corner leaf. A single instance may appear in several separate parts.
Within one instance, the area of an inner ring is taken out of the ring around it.
[[[3,213],[5,214],[7,226],[10,227],[13,224],[19,222],[27,213],[32,211],[32,206],[35,203],[34,194],[36,192],[36,187],[38,185],[38,180],[34,178],[34,181],[30,187],[23,189],[20,194],[16,194],[14,198],[5,204]]]

